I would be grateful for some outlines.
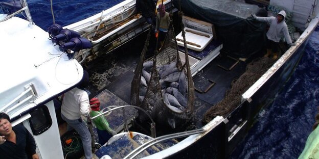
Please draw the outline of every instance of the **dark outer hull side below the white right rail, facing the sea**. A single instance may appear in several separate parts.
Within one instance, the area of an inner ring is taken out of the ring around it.
[[[309,37],[308,37],[309,38]],[[196,142],[167,158],[227,158],[256,122],[261,109],[267,107],[289,80],[304,54],[309,39],[294,50],[286,62],[248,100],[243,101],[223,122]],[[200,156],[198,156],[200,155]]]

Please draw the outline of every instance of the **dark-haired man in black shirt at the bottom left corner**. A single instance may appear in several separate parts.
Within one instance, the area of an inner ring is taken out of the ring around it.
[[[32,135],[23,125],[12,127],[6,113],[0,113],[0,135],[1,158],[39,158]]]

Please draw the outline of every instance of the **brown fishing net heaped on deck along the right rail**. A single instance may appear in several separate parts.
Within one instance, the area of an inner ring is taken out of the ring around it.
[[[246,71],[227,90],[225,97],[213,105],[205,114],[202,122],[208,123],[216,116],[226,116],[232,112],[241,102],[241,95],[252,86],[274,64],[271,58],[261,58],[247,65]]]

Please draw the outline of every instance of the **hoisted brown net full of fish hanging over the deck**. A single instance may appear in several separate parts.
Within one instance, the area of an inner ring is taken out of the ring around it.
[[[170,24],[163,46],[147,60],[150,32],[131,83],[131,104],[148,111],[151,117],[172,128],[186,123],[194,110],[194,84],[187,59],[180,61],[174,29]],[[146,116],[140,114],[141,122]]]

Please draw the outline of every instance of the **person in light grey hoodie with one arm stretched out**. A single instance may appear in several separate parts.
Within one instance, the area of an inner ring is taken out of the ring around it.
[[[285,22],[286,12],[284,10],[280,11],[276,17],[258,17],[256,14],[252,14],[252,18],[261,22],[270,23],[269,30],[266,33],[267,53],[264,57],[269,57],[273,54],[272,59],[276,60],[278,58],[279,41],[282,37],[285,37],[289,46],[295,45],[289,36],[288,27]]]

